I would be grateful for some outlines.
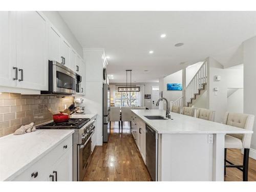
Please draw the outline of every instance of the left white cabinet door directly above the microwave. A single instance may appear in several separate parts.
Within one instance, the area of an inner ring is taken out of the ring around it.
[[[49,60],[61,62],[60,59],[60,35],[53,26],[49,27]]]

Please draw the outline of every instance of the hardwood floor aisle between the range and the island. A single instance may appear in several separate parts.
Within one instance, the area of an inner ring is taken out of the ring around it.
[[[96,146],[84,181],[151,181],[150,174],[125,122],[123,132],[118,122],[111,123],[108,143]]]

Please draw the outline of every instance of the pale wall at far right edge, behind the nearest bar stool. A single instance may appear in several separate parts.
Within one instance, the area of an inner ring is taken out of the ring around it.
[[[244,113],[256,115],[256,36],[243,42]],[[254,121],[251,148],[256,158],[256,122]]]

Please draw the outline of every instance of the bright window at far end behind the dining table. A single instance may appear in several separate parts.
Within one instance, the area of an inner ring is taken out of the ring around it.
[[[137,106],[136,92],[115,92],[116,103],[115,106]]]

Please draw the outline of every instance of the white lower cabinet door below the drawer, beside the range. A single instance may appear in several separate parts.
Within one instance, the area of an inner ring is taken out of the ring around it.
[[[52,171],[49,173],[48,180],[52,181],[50,175],[53,175],[54,181],[56,181],[56,179],[57,181],[72,181],[72,166],[72,147],[69,147],[67,152],[65,152],[65,154],[63,154],[52,166]]]

